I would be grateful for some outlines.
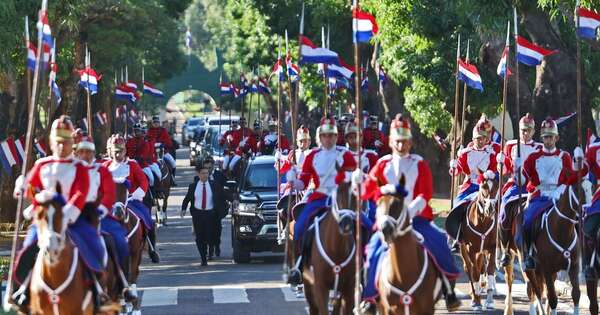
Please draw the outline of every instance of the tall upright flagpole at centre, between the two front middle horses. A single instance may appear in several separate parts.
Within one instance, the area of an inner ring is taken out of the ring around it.
[[[358,10],[359,8],[359,0],[354,0],[353,1],[353,5],[352,5],[352,9],[353,10]],[[352,19],[352,23],[353,23],[353,29],[354,30],[358,30],[358,20],[356,18]],[[352,32],[352,37],[353,37],[353,42],[354,42],[354,94],[355,94],[355,102],[356,102],[356,125],[358,128],[358,133],[356,134],[356,152],[358,153],[358,170],[359,172],[361,172],[361,176],[362,176],[362,165],[361,165],[361,160],[362,160],[362,144],[361,144],[361,135],[362,135],[362,110],[361,110],[361,106],[360,106],[360,82],[361,82],[361,73],[360,73],[360,49],[359,49],[359,43],[358,43],[358,39],[356,38],[356,35],[354,34],[354,31]],[[361,181],[362,182],[362,181]],[[362,206],[362,200],[361,200],[361,195],[362,195],[362,187],[361,184],[359,183],[357,185],[357,196],[356,196],[356,224],[355,224],[355,244],[360,244],[361,243],[361,237],[360,237],[360,232],[361,232],[361,224],[360,224],[360,212],[361,212],[361,206]],[[361,284],[361,276],[360,276],[360,265],[362,262],[362,255],[363,252],[360,250],[357,250],[355,252],[355,274],[354,274],[354,305],[356,307],[358,307],[360,305],[360,301],[361,301],[361,292],[360,292],[360,284]]]

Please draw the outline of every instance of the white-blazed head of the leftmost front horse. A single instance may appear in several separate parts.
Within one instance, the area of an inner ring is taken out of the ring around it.
[[[61,193],[60,184],[56,190],[42,190],[35,195],[38,207],[34,223],[38,229],[38,246],[44,253],[49,265],[59,261],[66,244],[67,218],[63,215],[66,201]]]

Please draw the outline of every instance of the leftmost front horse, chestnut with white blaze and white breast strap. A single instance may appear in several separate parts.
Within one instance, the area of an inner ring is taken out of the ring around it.
[[[60,185],[42,191],[34,215],[38,230],[38,253],[31,274],[31,314],[94,313],[93,292],[86,284],[85,266],[78,249],[67,236]]]

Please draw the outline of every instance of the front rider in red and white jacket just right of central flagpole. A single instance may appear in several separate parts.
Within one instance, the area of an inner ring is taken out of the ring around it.
[[[392,154],[386,155],[377,161],[364,182],[362,198],[377,201],[381,196],[397,193],[406,193],[404,204],[415,231],[423,236],[423,246],[436,261],[442,281],[446,306],[454,310],[460,305],[459,300],[449,285],[448,279],[458,277],[460,271],[454,264],[454,258],[446,243],[446,235],[435,227],[433,212],[429,206],[433,194],[433,179],[429,164],[421,156],[411,154],[412,133],[408,119],[401,115],[396,116],[390,126],[389,146]],[[399,187],[400,178],[404,176],[405,185]],[[376,228],[381,230],[388,222],[389,217],[378,213]],[[363,291],[361,309],[370,312],[374,310],[374,303],[379,295],[376,288],[377,267],[382,254],[387,251],[381,232],[371,236],[367,245],[367,279]]]

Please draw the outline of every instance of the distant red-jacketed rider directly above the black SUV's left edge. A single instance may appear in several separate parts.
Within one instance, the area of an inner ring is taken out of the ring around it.
[[[226,145],[227,152],[223,158],[223,170],[233,171],[242,155],[256,152],[256,139],[252,130],[246,128],[246,119],[240,118],[239,125],[232,122],[232,129],[223,134],[219,140],[221,146]]]

